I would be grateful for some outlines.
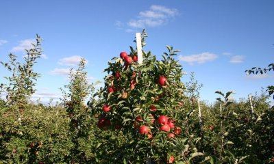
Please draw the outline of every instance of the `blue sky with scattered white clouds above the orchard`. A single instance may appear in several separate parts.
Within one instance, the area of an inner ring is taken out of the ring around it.
[[[273,85],[273,72],[245,74],[274,61],[273,8],[272,0],[0,1],[0,61],[8,61],[9,53],[22,59],[38,33],[45,41],[34,98],[58,100],[58,88],[69,83],[66,74],[80,57],[88,60],[90,82],[102,81],[108,61],[135,46],[135,33],[145,28],[145,51],[160,59],[165,45],[180,49],[184,72],[195,72],[203,83],[202,99],[212,102],[216,90],[246,98]],[[3,67],[0,75],[8,75]]]

